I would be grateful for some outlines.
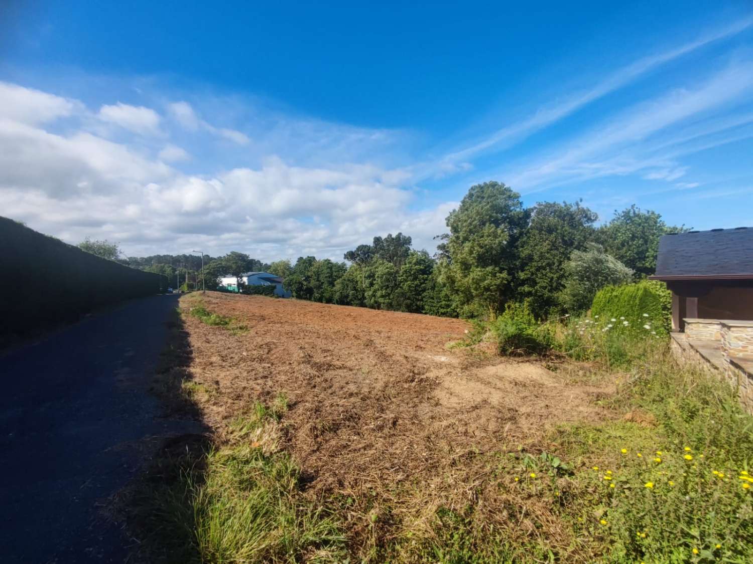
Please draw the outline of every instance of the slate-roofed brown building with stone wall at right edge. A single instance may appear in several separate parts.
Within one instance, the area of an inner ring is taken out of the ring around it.
[[[714,368],[753,413],[753,228],[664,235],[654,280],[672,290],[672,351]]]

